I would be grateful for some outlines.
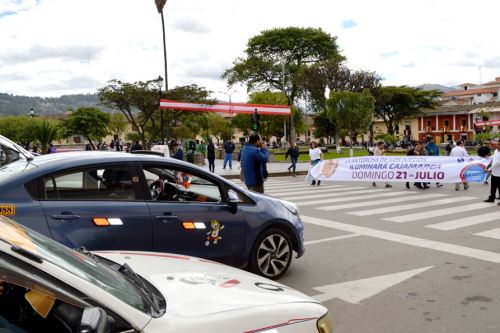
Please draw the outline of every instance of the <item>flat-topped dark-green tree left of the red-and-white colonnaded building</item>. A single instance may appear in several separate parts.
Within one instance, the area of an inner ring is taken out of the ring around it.
[[[384,121],[387,132],[394,135],[396,127],[405,118],[420,115],[422,109],[434,109],[437,98],[442,95],[438,90],[422,90],[407,86],[388,86],[375,89],[375,115]]]

